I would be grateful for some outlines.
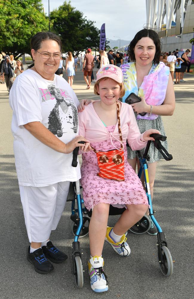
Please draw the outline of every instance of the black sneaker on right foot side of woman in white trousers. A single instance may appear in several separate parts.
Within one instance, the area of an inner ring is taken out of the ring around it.
[[[47,242],[47,246],[42,246],[42,251],[45,257],[53,263],[63,263],[68,258],[64,252],[59,251],[50,241]]]

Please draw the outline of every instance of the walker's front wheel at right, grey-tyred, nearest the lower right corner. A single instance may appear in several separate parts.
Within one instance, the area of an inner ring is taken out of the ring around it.
[[[161,250],[163,263],[161,263],[158,256],[160,270],[164,276],[170,277],[173,274],[173,260],[170,251],[166,246],[162,246]]]

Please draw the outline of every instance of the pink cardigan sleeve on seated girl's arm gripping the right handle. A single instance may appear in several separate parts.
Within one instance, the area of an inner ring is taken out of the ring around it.
[[[133,108],[129,106],[130,113],[130,122],[129,125],[129,133],[127,136],[127,142],[130,145],[132,150],[143,149],[147,145],[147,141],[144,141],[143,134],[140,134],[138,124],[136,121],[135,114],[133,112]]]

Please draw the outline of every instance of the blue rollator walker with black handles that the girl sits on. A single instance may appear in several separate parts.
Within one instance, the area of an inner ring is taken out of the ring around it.
[[[173,274],[173,260],[170,251],[167,248],[165,234],[154,217],[151,194],[150,194],[147,161],[149,161],[150,159],[148,155],[148,151],[151,142],[154,143],[154,146],[161,152],[165,160],[170,161],[172,160],[173,157],[161,145],[160,141],[165,141],[166,136],[160,134],[152,134],[150,136],[153,137],[155,141],[147,142],[147,147],[145,149],[143,157],[141,153],[138,151],[138,158],[140,162],[138,177],[141,178],[142,173],[144,174],[144,184],[145,184],[145,190],[146,190],[146,195],[149,204],[149,215],[158,231],[157,233],[158,263],[162,274],[166,277],[169,277]],[[80,143],[84,144],[83,141],[81,141]],[[74,149],[73,151],[73,162],[72,162],[73,167],[77,166],[77,154],[78,154],[78,148]],[[72,243],[73,272],[74,272],[76,286],[78,288],[81,288],[83,286],[84,280],[83,280],[83,267],[82,267],[82,252],[80,249],[80,243],[78,241],[78,238],[84,237],[88,234],[92,211],[91,210],[88,211],[85,207],[82,207],[82,204],[84,205],[84,200],[81,198],[79,181],[73,182],[71,187],[73,187],[73,199],[72,199],[72,214],[70,218],[72,220],[71,229],[75,236],[74,241]],[[77,202],[77,208],[75,208],[76,202]],[[110,205],[109,215],[121,215],[124,212],[124,210],[125,208],[120,209]],[[131,227],[129,231],[133,232],[134,234],[145,234],[150,229],[150,225],[151,225],[150,218],[149,216],[144,215],[144,217],[140,219],[135,225],[133,225],[133,227]]]

